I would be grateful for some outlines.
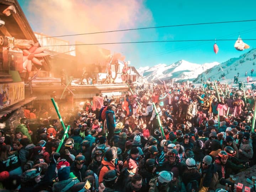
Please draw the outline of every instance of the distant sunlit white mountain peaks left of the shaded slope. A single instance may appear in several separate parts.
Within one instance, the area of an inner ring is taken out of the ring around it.
[[[199,74],[204,71],[219,65],[218,62],[196,64],[190,63],[185,60],[180,60],[171,65],[158,64],[153,67],[140,67],[137,69],[138,73],[146,78],[149,82],[173,79],[178,80],[194,80]]]

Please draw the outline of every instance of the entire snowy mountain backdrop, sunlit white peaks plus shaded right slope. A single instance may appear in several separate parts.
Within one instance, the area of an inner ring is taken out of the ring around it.
[[[201,83],[206,78],[210,80],[222,79],[222,75],[225,79],[232,79],[234,75],[239,77],[245,77],[245,71],[247,75],[250,75],[252,69],[256,74],[256,49],[251,49],[249,52],[240,55],[239,58],[231,58],[224,63],[218,62],[195,64],[185,60],[180,60],[171,65],[158,64],[153,67],[141,67],[137,69],[140,75],[146,78],[149,82],[156,82],[158,79],[165,80],[165,82],[173,79],[174,81],[190,80],[194,83]]]

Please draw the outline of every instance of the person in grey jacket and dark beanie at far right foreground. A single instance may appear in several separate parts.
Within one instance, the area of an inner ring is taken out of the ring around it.
[[[244,137],[242,139],[242,143],[239,147],[239,159],[243,161],[249,161],[253,156],[252,149],[252,140],[250,138],[250,133],[244,133]]]

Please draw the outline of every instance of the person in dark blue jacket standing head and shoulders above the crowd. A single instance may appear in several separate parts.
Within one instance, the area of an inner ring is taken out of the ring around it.
[[[106,125],[107,125],[107,139],[111,143],[111,138],[114,136],[114,129],[116,128],[116,117],[115,117],[116,106],[114,104],[107,107],[106,111]]]

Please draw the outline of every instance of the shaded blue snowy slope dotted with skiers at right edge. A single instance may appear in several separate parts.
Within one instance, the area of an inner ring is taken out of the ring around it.
[[[221,63],[213,68],[210,68],[204,73],[199,74],[197,79],[194,82],[201,82],[201,78],[205,81],[205,78],[210,78],[211,80],[222,79],[222,75],[225,76],[225,79],[232,79],[234,75],[238,76],[241,79],[245,77],[245,72],[247,71],[247,76],[251,75],[251,70],[256,70],[256,49],[251,49],[249,52],[240,55],[239,58],[231,58],[224,63]],[[253,76],[255,76],[253,72]],[[239,79],[239,80],[240,80]]]

